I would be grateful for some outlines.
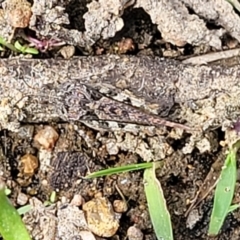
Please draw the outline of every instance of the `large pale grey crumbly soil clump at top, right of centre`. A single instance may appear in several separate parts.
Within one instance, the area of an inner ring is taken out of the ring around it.
[[[189,43],[194,46],[207,44],[221,48],[216,32],[210,31],[197,15],[189,14],[181,1],[137,0],[134,7],[142,7],[150,15],[166,42],[179,47]]]

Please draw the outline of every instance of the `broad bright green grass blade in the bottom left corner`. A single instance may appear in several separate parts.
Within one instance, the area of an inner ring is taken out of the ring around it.
[[[0,186],[0,234],[4,240],[31,240],[20,215],[5,195],[2,185]]]

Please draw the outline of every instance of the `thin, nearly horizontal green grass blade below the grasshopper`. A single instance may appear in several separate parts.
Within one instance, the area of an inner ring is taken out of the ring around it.
[[[115,168],[108,168],[108,169],[100,170],[97,172],[93,172],[87,175],[85,178],[89,179],[89,178],[108,176],[108,175],[122,173],[122,172],[136,171],[136,170],[141,170],[145,168],[150,168],[152,167],[152,165],[153,165],[152,162],[147,162],[147,163],[129,164],[129,165],[115,167]]]

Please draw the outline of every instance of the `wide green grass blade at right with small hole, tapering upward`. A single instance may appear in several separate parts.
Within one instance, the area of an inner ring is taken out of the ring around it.
[[[224,163],[214,194],[213,210],[208,234],[215,236],[219,233],[223,222],[231,209],[237,180],[236,149],[231,149]]]

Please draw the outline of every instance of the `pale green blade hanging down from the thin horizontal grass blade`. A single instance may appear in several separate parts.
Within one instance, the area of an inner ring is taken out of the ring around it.
[[[173,240],[170,214],[159,181],[155,176],[155,163],[144,171],[144,189],[149,214],[158,240]]]

